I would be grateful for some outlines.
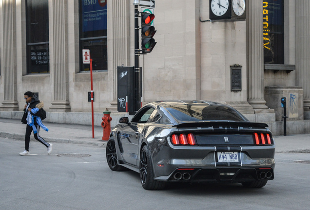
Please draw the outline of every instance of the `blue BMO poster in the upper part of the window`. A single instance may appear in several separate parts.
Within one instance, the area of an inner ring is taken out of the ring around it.
[[[81,0],[83,32],[107,29],[107,0]]]

